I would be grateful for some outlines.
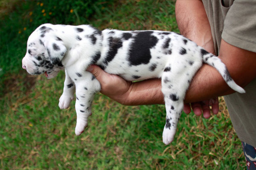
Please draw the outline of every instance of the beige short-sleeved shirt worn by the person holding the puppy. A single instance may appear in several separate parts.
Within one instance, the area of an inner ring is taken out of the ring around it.
[[[218,55],[221,38],[231,45],[256,52],[256,0],[202,1],[211,26],[215,54]],[[244,90],[245,94],[234,93],[224,99],[239,139],[256,147],[256,79]]]

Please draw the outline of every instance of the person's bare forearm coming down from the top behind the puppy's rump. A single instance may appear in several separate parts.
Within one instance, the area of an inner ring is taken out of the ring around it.
[[[180,33],[214,54],[211,28],[201,0],[177,0],[175,14]]]

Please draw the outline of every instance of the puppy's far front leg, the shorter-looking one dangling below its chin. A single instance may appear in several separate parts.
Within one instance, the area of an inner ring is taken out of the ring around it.
[[[69,77],[67,70],[65,69],[66,78],[64,81],[63,94],[59,99],[59,108],[67,109],[70,106],[70,102],[74,99],[75,83]]]

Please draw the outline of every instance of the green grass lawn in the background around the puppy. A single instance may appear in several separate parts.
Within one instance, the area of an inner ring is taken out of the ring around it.
[[[17,2],[1,20],[6,25],[1,23],[0,32],[0,170],[245,169],[241,143],[223,101],[221,113],[210,119],[183,113],[175,141],[166,146],[162,142],[164,105],[123,106],[96,94],[89,126],[76,136],[75,102],[67,110],[58,108],[64,73],[48,80],[21,69],[26,39],[33,29],[62,20],[58,11],[55,17],[43,16],[41,11],[54,4],[38,2],[42,1]],[[74,8],[75,14],[70,13],[71,6],[59,7],[67,11],[63,14],[67,20],[61,22],[89,23],[100,29],[178,31],[172,1],[100,4],[100,8],[92,6],[86,17],[79,11],[83,8]]]

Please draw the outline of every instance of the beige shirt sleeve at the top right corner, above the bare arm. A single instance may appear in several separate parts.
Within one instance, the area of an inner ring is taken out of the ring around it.
[[[256,52],[256,0],[235,0],[221,35],[227,43]]]

